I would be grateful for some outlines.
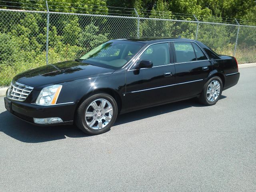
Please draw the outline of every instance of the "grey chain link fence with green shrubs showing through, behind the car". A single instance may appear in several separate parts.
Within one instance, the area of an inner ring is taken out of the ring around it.
[[[0,9],[0,86],[28,70],[82,56],[126,37],[192,38],[238,62],[256,62],[256,26],[108,15]]]

